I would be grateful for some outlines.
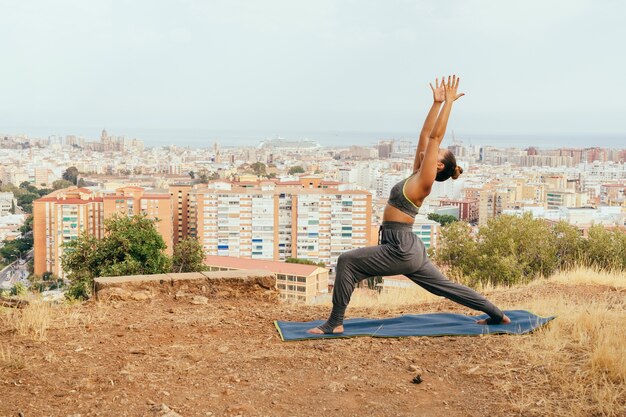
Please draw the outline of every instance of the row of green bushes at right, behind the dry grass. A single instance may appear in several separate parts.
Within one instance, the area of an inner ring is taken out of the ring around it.
[[[443,227],[440,237],[435,260],[469,285],[512,285],[577,265],[626,269],[626,233],[602,226],[592,227],[585,239],[564,222],[549,225],[530,214],[503,215],[475,237],[465,222]]]

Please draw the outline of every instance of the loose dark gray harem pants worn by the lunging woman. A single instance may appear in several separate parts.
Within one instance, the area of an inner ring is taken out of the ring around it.
[[[373,276],[405,275],[435,295],[446,297],[474,310],[487,313],[499,323],[504,313],[471,288],[450,281],[432,264],[422,241],[413,233],[413,225],[383,222],[379,245],[345,252],[337,259],[333,310],[319,328],[325,333],[343,324],[343,317],[356,284]]]

